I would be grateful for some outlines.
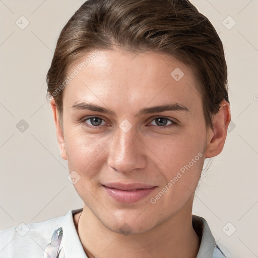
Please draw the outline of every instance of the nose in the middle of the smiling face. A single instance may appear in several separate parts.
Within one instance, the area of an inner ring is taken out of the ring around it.
[[[126,133],[118,128],[108,145],[108,165],[121,173],[143,169],[147,164],[146,148],[134,126]]]

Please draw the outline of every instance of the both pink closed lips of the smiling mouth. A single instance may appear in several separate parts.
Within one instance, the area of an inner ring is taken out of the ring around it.
[[[105,183],[102,184],[107,193],[117,202],[132,204],[150,195],[157,187],[142,183]]]

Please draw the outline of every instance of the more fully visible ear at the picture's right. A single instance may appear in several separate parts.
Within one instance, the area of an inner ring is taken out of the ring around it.
[[[230,106],[225,99],[220,103],[219,112],[213,116],[213,130],[209,128],[206,143],[205,157],[212,158],[223,150],[228,125],[231,120]]]

